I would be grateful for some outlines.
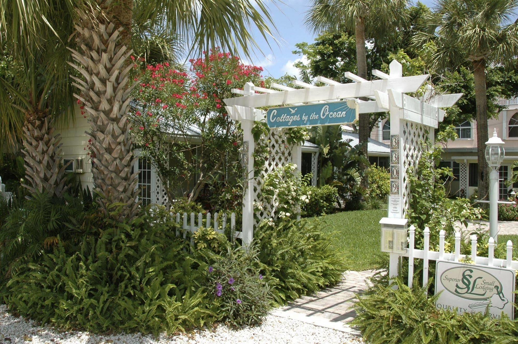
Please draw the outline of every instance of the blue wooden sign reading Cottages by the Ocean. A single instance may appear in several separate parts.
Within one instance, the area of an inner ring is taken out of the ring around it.
[[[271,108],[266,112],[270,128],[351,124],[357,120],[356,109],[350,108],[347,101]]]

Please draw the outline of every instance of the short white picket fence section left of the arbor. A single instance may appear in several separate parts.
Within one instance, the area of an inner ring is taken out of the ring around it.
[[[171,217],[175,216],[173,213],[169,213],[169,215]],[[220,222],[219,222],[219,220],[220,220],[219,213],[214,213],[214,217],[212,217],[210,212],[208,212],[206,214],[205,219],[203,218],[202,213],[198,213],[198,216],[197,216],[198,223],[196,223],[196,216],[194,213],[191,213],[189,223],[188,223],[187,213],[183,213],[182,220],[183,220],[182,229],[184,230],[183,238],[186,237],[187,231],[194,234],[194,232],[196,232],[200,227],[205,227],[205,228],[212,227],[218,233],[224,233],[224,231],[227,227],[227,214],[226,213],[223,213],[223,215],[221,216],[221,226],[220,226]],[[176,223],[180,224],[180,213],[176,213]],[[236,214],[235,213],[232,213],[230,216],[230,229],[231,229],[231,233],[233,236],[232,237],[233,240],[235,240],[236,238],[242,237],[242,232],[236,231]],[[180,236],[179,229],[176,230],[176,236]],[[191,235],[191,244],[193,244],[193,242],[194,242],[194,236]]]

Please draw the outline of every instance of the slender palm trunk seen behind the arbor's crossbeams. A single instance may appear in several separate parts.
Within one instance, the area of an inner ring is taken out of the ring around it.
[[[367,55],[365,52],[365,19],[360,17],[356,20],[355,27],[355,39],[356,39],[356,66],[358,68],[358,77],[367,79]],[[362,113],[359,115],[359,144],[365,143],[362,147],[362,152],[365,156],[368,156],[367,152],[367,141],[370,136],[369,131],[369,114]],[[363,165],[363,164],[362,164]],[[361,166],[363,170],[367,169],[367,166]],[[362,186],[367,187],[369,185],[369,179],[367,174],[362,177]]]

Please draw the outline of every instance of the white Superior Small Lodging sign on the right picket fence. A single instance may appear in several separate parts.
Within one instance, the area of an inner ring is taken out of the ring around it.
[[[476,264],[437,261],[435,303],[438,309],[457,309],[458,313],[485,312],[494,319],[501,313],[514,317],[515,270]]]

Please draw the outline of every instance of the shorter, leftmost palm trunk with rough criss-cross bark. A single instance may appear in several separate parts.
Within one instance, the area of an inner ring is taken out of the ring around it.
[[[23,126],[25,138],[25,178],[28,184],[22,184],[31,193],[49,191],[62,197],[65,191],[66,166],[61,166],[61,137],[54,134],[47,111],[25,113]]]

